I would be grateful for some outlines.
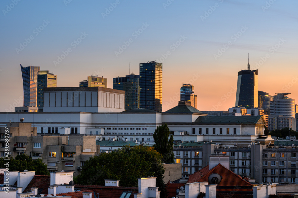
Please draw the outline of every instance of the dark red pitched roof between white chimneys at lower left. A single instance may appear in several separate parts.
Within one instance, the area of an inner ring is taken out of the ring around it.
[[[48,175],[34,175],[33,179],[23,190],[23,192],[31,191],[31,188],[38,188],[38,194],[48,194],[48,187],[51,177]]]

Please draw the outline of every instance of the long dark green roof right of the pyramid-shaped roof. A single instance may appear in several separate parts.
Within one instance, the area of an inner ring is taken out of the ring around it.
[[[200,124],[257,124],[262,116],[200,116],[194,123]]]

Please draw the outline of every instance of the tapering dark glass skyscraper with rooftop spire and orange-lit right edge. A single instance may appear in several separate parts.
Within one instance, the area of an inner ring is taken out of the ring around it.
[[[250,70],[249,63],[238,72],[235,106],[258,107],[258,70]]]

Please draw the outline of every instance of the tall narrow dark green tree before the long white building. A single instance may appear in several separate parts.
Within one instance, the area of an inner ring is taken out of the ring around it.
[[[170,129],[167,124],[156,127],[153,133],[154,145],[153,148],[162,154],[162,162],[164,163],[174,163],[174,138],[173,135],[170,136]]]

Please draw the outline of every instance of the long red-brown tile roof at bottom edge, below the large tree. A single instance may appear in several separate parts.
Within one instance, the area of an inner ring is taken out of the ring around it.
[[[134,198],[134,193],[139,193],[138,187],[123,186],[102,186],[102,185],[75,185],[75,188],[81,190],[93,190],[99,198],[119,198],[123,191],[132,192],[130,198]]]

